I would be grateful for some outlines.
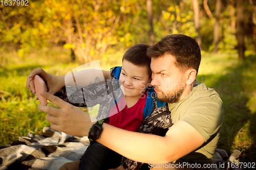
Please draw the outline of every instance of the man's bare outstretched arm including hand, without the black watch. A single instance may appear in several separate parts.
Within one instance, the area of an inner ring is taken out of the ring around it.
[[[60,107],[38,106],[39,110],[49,113],[46,119],[52,123],[52,129],[74,136],[88,136],[94,124],[88,114],[50,93],[41,94]],[[205,142],[195,128],[182,120],[170,127],[164,137],[103,124],[103,131],[97,141],[129,159],[145,163],[175,161]]]

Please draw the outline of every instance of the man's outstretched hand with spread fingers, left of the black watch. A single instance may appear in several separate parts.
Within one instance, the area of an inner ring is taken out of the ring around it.
[[[48,92],[41,92],[41,95],[59,107],[38,106],[39,110],[48,113],[46,120],[52,123],[52,129],[73,136],[88,136],[94,123],[87,113]]]

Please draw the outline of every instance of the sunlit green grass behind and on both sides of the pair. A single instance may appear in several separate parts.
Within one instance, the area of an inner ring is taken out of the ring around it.
[[[60,47],[31,51],[26,57],[17,57],[3,49],[0,53],[0,145],[3,145],[50,126],[45,120],[46,113],[37,109],[39,102],[25,87],[30,72],[42,67],[51,74],[66,75],[80,64],[71,63],[70,51]],[[102,69],[120,65],[122,54],[103,56]],[[218,148],[229,154],[240,150],[241,162],[256,160],[255,72],[255,53],[247,52],[243,62],[235,53],[204,53],[197,77],[199,82],[215,88],[223,101],[225,119]]]

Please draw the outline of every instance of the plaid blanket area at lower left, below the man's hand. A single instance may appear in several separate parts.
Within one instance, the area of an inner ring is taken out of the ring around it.
[[[87,137],[71,136],[45,127],[40,135],[28,134],[19,141],[0,146],[0,170],[59,169],[79,160],[89,145]]]

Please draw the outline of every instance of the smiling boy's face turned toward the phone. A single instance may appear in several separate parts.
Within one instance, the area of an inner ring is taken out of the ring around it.
[[[119,81],[125,96],[140,97],[145,92],[147,84],[150,83],[151,75],[148,74],[147,67],[136,66],[123,60]]]

